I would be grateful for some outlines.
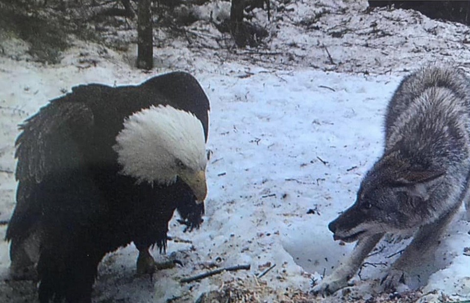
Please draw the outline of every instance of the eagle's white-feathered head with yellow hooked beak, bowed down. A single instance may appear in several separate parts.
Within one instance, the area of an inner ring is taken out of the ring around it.
[[[113,149],[124,175],[140,182],[170,185],[179,176],[198,202],[207,195],[206,140],[201,121],[166,106],[142,109],[124,119]]]

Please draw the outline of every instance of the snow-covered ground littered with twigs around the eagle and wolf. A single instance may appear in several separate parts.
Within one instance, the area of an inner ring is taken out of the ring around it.
[[[14,140],[17,125],[27,116],[77,84],[135,84],[154,74],[185,69],[200,81],[211,101],[208,148],[213,154],[207,169],[205,221],[199,230],[186,234],[176,220],[170,222],[169,236],[175,240],[169,241],[167,254],[185,266],[157,272],[153,281],[135,277],[133,245],[109,254],[99,266],[94,302],[194,302],[204,292],[230,285],[250,290],[244,298],[255,299],[248,302],[299,302],[296,296],[308,296],[312,279],[328,274],[353,248],[333,241],[327,225],[353,203],[362,176],[381,154],[384,110],[401,77],[426,62],[450,61],[466,67],[470,59],[463,51],[466,44],[456,42],[469,33],[463,25],[402,10],[366,13],[363,3],[354,8],[349,1],[314,2],[325,3],[333,13],[319,19],[320,28],[354,26],[356,32],[346,31],[341,40],[332,38],[328,29],[295,27],[319,5],[294,2],[299,12],[292,17],[295,20],[280,22],[281,29],[272,38],[272,47],[281,49],[291,40],[303,39],[304,46],[291,43],[292,65],[267,57],[257,63],[259,58],[246,54],[234,60],[233,53],[222,60],[213,56],[214,50],[204,53],[178,41],[156,49],[159,59],[151,74],[132,67],[133,49],[125,54],[103,52],[102,46],[78,41],[59,65],[1,56],[0,220],[7,220],[14,207]],[[350,4],[349,9],[357,12],[345,23],[349,17],[334,12]],[[393,36],[366,39],[353,23],[360,18],[362,27],[377,20],[376,26]],[[456,37],[450,41],[452,35]],[[84,65],[83,56],[96,60],[96,66]],[[0,226],[0,238],[5,230]],[[430,272],[423,274],[423,288],[413,298],[470,299],[470,257],[464,255],[470,246],[469,231],[462,209],[442,238]],[[354,277],[355,286],[333,297],[308,300],[375,296],[380,291],[378,281],[394,260],[391,256],[405,244],[381,242],[360,277]],[[153,254],[164,258],[157,251]],[[237,264],[250,264],[251,269],[179,282],[214,267]],[[274,264],[264,277],[256,278]],[[35,285],[8,280],[8,265],[8,243],[0,242],[0,302],[34,302]]]

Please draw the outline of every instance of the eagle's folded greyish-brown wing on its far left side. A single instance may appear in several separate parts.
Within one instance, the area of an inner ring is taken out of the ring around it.
[[[37,188],[54,174],[80,169],[83,153],[93,135],[93,112],[83,103],[71,102],[70,95],[51,101],[20,126],[16,140],[19,181],[17,203],[8,224],[6,239],[26,236],[41,212]]]

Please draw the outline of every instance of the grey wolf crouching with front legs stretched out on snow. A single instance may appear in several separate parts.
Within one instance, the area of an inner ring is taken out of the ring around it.
[[[386,110],[383,155],[354,204],[328,225],[334,240],[357,240],[352,255],[313,291],[328,295],[347,286],[389,233],[413,238],[381,284],[406,285],[463,201],[469,211],[469,178],[469,78],[451,66],[427,65],[401,81]]]

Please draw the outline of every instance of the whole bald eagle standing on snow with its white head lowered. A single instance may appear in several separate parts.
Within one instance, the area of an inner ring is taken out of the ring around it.
[[[175,209],[201,221],[209,110],[196,79],[172,72],[73,87],[28,118],[6,233],[12,274],[37,269],[41,303],[91,302],[100,260],[132,241],[138,272],[152,272],[148,250],[165,248]]]

